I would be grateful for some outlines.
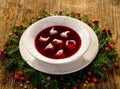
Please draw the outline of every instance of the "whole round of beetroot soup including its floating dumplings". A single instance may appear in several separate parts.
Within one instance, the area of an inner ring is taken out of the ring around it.
[[[35,38],[37,51],[52,59],[74,55],[81,46],[80,36],[71,28],[51,26],[41,30]]]

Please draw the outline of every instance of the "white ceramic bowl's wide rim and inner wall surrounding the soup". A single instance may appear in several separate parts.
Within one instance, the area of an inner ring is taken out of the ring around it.
[[[43,56],[40,54],[36,47],[35,47],[35,38],[38,35],[40,31],[43,29],[50,27],[50,26],[66,26],[71,29],[73,29],[75,32],[78,33],[78,35],[81,38],[81,47],[80,49],[72,56],[64,58],[64,59],[51,59],[48,57]],[[83,23],[80,20],[68,17],[68,16],[50,16],[44,19],[41,19],[34,24],[32,24],[29,28],[27,28],[27,34],[25,38],[25,45],[27,47],[27,50],[30,52],[31,55],[33,55],[36,59],[39,61],[53,64],[53,65],[59,65],[59,64],[71,64],[76,60],[81,60],[84,53],[88,50],[90,45],[90,35],[88,30],[86,29],[86,24]]]

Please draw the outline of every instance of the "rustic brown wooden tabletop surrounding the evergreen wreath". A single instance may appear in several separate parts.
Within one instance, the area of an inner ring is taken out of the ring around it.
[[[41,9],[49,13],[67,9],[79,11],[81,15],[90,14],[93,19],[98,19],[112,30],[116,47],[120,51],[120,0],[0,0],[0,49],[13,25],[19,23],[22,17],[34,17]],[[118,63],[120,64],[119,58]],[[1,67],[0,89],[20,89],[12,74],[6,73]],[[108,74],[107,82],[90,84],[83,89],[120,89],[120,70],[114,70],[113,75]]]

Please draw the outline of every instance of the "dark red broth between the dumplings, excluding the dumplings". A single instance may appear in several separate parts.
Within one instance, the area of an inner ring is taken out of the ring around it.
[[[51,30],[52,27],[54,27],[54,29],[58,31],[57,34],[50,35],[49,31]],[[70,32],[68,34],[67,38],[64,38],[64,37],[60,36],[60,34],[62,32],[65,32],[65,31]],[[47,42],[41,42],[39,40],[40,36],[42,36],[42,37],[50,37],[50,39]],[[54,46],[53,50],[47,50],[47,51],[44,50],[46,45],[48,45],[49,43],[52,43],[53,39],[62,40],[63,41],[63,46],[59,47],[58,45],[53,44],[53,46]],[[75,46],[74,49],[69,50],[68,48],[66,48],[65,43],[66,43],[67,40],[74,40],[76,42],[76,46]],[[60,59],[60,58],[70,57],[70,56],[74,55],[80,49],[80,46],[81,46],[81,38],[80,38],[80,36],[74,30],[72,30],[71,28],[65,27],[65,26],[51,26],[51,27],[45,28],[42,31],[40,31],[39,34],[35,38],[35,47],[36,47],[37,51],[40,54],[42,54],[42,55],[44,55],[44,56],[46,56],[48,58],[52,58],[52,59]],[[60,49],[63,49],[64,56],[56,57],[55,54]]]

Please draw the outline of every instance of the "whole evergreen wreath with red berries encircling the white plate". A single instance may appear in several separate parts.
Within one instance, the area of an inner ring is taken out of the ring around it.
[[[62,76],[45,74],[31,68],[20,55],[20,37],[29,25],[50,15],[48,12],[40,10],[37,16],[30,21],[24,18],[20,24],[13,27],[12,34],[5,42],[4,49],[0,50],[0,56],[3,60],[2,66],[5,70],[19,70],[14,75],[15,80],[18,80],[18,82],[26,81],[27,84],[30,83],[33,86],[33,89],[80,89],[82,86],[87,86],[89,82],[96,84],[99,80],[105,79],[105,71],[109,71],[113,67],[119,68],[119,65],[115,63],[117,51],[111,30],[100,25],[98,20],[91,20],[88,15],[81,17],[80,12],[68,13],[66,10],[56,11],[53,15],[66,15],[79,19],[88,24],[97,34],[99,52],[94,61],[82,70]],[[27,89],[27,86],[23,84],[20,84],[20,86]]]

